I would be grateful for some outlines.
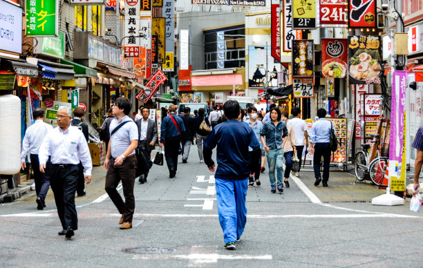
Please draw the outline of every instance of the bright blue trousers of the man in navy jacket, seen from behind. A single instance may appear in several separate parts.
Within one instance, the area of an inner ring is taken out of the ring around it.
[[[215,178],[216,201],[220,227],[223,230],[223,240],[236,242],[241,238],[245,224],[247,223],[247,181],[245,180],[223,180]]]

